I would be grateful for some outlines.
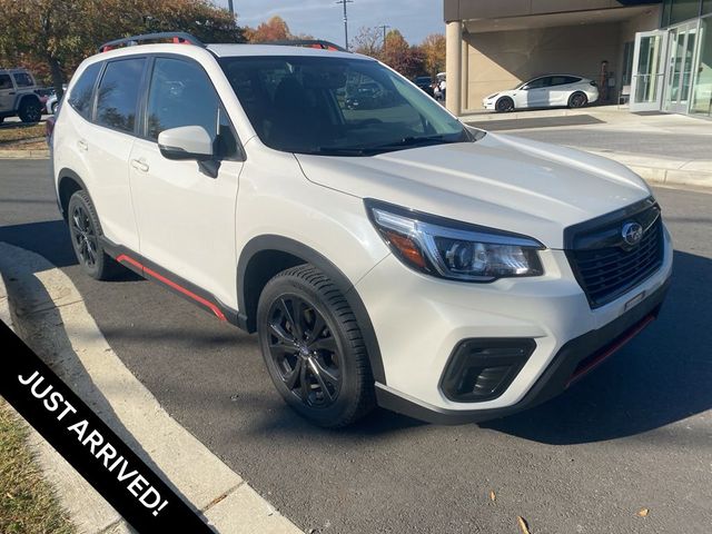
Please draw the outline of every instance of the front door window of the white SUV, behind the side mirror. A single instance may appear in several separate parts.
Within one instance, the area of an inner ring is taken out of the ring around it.
[[[149,139],[181,126],[201,126],[214,140],[217,135],[218,96],[205,71],[192,62],[156,59],[147,111]]]

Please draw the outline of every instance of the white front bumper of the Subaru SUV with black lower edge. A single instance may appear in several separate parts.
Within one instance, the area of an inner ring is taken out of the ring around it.
[[[561,250],[542,254],[542,277],[486,285],[439,280],[384,259],[356,286],[383,356],[386,380],[376,384],[378,404],[456,424],[500,417],[561,393],[656,317],[672,271],[664,236],[661,268],[597,309],[591,309]],[[501,395],[448,398],[441,379],[454,348],[463,339],[485,338],[533,339],[536,348]]]

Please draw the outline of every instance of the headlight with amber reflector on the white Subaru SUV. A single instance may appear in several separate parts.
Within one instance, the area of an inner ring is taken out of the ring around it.
[[[366,200],[372,222],[408,267],[441,278],[487,283],[544,274],[535,239]]]

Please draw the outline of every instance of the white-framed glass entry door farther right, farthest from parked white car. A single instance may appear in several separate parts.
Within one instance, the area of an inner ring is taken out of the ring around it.
[[[666,111],[686,113],[690,91],[694,80],[694,52],[698,24],[686,24],[670,30],[668,53]]]

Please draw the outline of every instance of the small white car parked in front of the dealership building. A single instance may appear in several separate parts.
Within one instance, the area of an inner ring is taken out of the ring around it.
[[[490,95],[482,105],[485,109],[504,113],[525,108],[583,108],[597,99],[599,87],[593,80],[571,75],[547,75],[512,90]]]

